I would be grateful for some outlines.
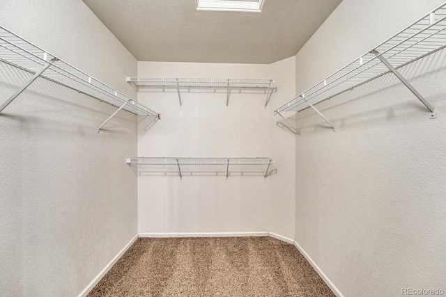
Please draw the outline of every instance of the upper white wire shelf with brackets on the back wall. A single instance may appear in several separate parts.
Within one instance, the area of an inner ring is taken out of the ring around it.
[[[181,102],[180,90],[209,89],[226,90],[226,106],[233,90],[256,90],[266,94],[265,107],[270,102],[272,93],[277,88],[272,87],[274,79],[197,79],[197,78],[162,78],[162,77],[127,77],[127,82],[139,88],[176,89]]]

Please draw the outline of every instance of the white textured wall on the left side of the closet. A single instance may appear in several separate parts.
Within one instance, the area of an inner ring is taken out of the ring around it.
[[[0,24],[93,77],[137,61],[82,1],[0,1]],[[1,102],[29,74],[0,64]],[[76,296],[137,234],[137,117],[39,79],[0,115],[0,295]]]

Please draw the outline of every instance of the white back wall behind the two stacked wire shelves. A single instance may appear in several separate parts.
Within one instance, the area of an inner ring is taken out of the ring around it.
[[[269,156],[277,175],[138,177],[139,232],[257,232],[293,237],[294,137],[277,127],[272,111],[295,93],[294,57],[273,65],[139,62],[139,77],[276,79],[265,95],[174,93],[140,90],[138,100],[162,120],[138,127],[139,156]],[[278,141],[283,138],[283,141]]]

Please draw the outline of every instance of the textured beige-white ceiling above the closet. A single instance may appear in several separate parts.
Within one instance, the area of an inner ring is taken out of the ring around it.
[[[82,0],[138,61],[261,63],[295,55],[341,0],[265,0],[261,13],[195,0]]]

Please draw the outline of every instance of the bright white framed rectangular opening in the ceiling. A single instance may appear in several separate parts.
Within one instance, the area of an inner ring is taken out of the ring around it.
[[[196,0],[197,10],[261,13],[265,0]]]

